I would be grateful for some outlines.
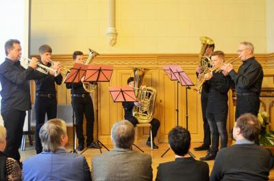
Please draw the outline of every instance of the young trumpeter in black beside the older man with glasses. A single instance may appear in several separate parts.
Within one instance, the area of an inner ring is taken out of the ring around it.
[[[211,60],[214,68],[225,61],[225,54],[223,51],[214,51]],[[227,147],[227,92],[232,81],[230,76],[225,76],[223,72],[210,72],[205,77],[207,80],[205,84],[209,87],[206,117],[210,126],[212,144],[208,154],[200,158],[200,160],[210,161],[214,160],[219,150],[219,135],[221,138],[221,148]]]

